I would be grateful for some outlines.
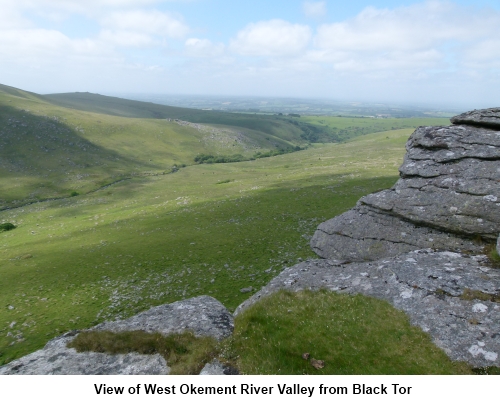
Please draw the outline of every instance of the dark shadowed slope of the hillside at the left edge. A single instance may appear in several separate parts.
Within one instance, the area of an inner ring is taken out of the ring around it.
[[[126,177],[145,162],[98,146],[57,117],[2,106],[0,208],[86,192]]]

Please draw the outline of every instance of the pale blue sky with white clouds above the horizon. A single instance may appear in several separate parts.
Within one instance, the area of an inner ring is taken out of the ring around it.
[[[0,83],[500,106],[500,0],[0,0]]]

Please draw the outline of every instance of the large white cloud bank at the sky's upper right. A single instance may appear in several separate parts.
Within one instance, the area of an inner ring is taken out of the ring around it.
[[[318,28],[318,60],[353,71],[446,69],[500,57],[500,13],[430,1],[396,9],[365,8]],[[465,51],[467,49],[467,51]]]

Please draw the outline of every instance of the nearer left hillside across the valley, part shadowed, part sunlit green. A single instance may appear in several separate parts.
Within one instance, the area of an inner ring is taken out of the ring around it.
[[[276,143],[251,133],[237,143],[234,134],[212,141],[192,126],[72,110],[0,86],[0,209],[168,172],[199,153],[251,155]]]

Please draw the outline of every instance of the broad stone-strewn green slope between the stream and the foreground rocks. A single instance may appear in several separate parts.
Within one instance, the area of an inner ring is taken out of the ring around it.
[[[234,309],[241,288],[314,255],[308,237],[321,221],[395,182],[410,132],[190,166],[0,212],[18,225],[0,234],[0,362],[185,297],[210,294]]]

